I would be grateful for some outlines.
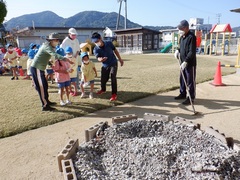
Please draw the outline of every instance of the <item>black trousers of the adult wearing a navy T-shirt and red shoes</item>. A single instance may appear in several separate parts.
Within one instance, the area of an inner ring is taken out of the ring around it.
[[[106,91],[106,84],[111,76],[112,94],[117,94],[117,64],[110,67],[102,67],[101,70],[101,90]]]

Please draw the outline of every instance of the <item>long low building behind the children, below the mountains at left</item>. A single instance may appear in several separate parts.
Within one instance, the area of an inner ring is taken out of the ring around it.
[[[58,32],[61,36],[61,40],[63,40],[68,36],[69,28],[70,27],[26,27],[13,31],[11,37],[14,37],[19,48],[28,48],[30,43],[42,44],[45,42],[48,35],[52,32]],[[79,43],[91,40],[91,36],[94,32],[98,32],[102,35],[104,30],[104,28],[74,28],[78,32],[77,39]],[[6,39],[8,41],[8,37],[6,37]]]

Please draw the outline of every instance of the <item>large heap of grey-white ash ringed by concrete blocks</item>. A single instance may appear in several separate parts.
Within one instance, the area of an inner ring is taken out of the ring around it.
[[[73,159],[78,179],[240,179],[240,153],[193,127],[159,120],[113,125],[83,143]]]

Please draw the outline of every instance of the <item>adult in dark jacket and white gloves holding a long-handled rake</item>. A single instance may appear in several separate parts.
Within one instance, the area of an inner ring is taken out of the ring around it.
[[[182,20],[177,27],[180,31],[183,32],[183,35],[180,37],[180,47],[175,52],[175,56],[179,57],[179,61],[181,63],[180,68],[183,73],[180,73],[180,94],[175,97],[175,99],[185,99],[182,104],[190,105],[190,98],[187,97],[187,88],[183,78],[186,80],[186,84],[189,89],[189,95],[191,96],[192,102],[194,102],[194,99],[196,98],[197,66],[196,36],[189,30],[189,23],[186,20]]]

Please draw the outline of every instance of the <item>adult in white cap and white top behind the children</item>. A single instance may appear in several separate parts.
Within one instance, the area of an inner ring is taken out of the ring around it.
[[[71,47],[72,48],[72,52],[73,52],[73,57],[76,58],[77,62],[78,62],[78,68],[74,71],[77,72],[77,88],[79,87],[79,69],[81,67],[81,59],[79,57],[79,53],[80,53],[80,46],[79,46],[79,41],[77,39],[77,31],[74,28],[70,28],[68,30],[68,36],[63,40],[62,44],[60,45],[61,48],[66,49],[67,47]]]

